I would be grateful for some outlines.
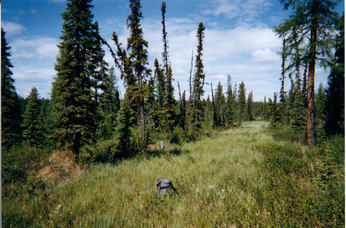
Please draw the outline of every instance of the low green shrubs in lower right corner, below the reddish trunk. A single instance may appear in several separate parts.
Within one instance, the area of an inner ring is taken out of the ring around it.
[[[344,227],[342,141],[334,137],[307,156],[292,143],[258,147],[264,155],[262,184],[251,190],[261,207],[261,226]]]

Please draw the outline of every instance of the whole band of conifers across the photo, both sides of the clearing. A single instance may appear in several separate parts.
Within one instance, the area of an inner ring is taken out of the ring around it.
[[[247,93],[244,82],[233,84],[230,75],[225,93],[221,82],[213,85],[205,80],[205,26],[202,22],[196,31],[197,51],[191,54],[189,90],[181,91],[178,82],[179,97],[176,99],[172,86],[174,66],[170,64],[167,45],[165,2],[161,5],[163,52],[155,58],[154,69],[149,68],[148,42],[140,23],[143,17],[140,1],[129,1],[127,44],[120,43],[113,31],[116,50],[100,37],[98,23],[93,21],[91,2],[71,0],[66,3],[54,66],[57,74],[50,99],[40,99],[36,87],[32,87],[26,99],[18,96],[11,72],[14,66],[10,61],[10,46],[2,29],[4,151],[31,146],[69,150],[75,155],[82,152],[86,157],[95,157],[90,152],[93,149],[88,147],[104,143],[112,144],[114,153],[124,156],[145,152],[149,144],[158,140],[196,140],[206,135],[208,129],[239,126],[243,121],[254,119],[270,120],[272,127],[278,123],[291,125],[294,131],[302,133],[309,147],[316,145],[316,135],[320,140],[320,136],[344,134],[341,96],[344,94],[341,18],[344,16],[332,11],[336,2],[321,0],[316,5],[313,1],[314,5],[306,1],[305,5],[300,5],[282,1],[284,8],[292,7],[295,14],[274,27],[283,39],[280,100],[278,93],[274,93],[272,99],[265,96],[263,103],[253,102],[253,92]],[[301,11],[305,13],[300,15]],[[307,39],[308,33],[316,39]],[[117,85],[119,78],[115,68],[104,60],[102,47],[109,48],[124,82],[126,91],[122,100]],[[315,99],[314,77],[318,62],[332,71],[328,86],[319,89]],[[289,91],[285,90],[287,75],[291,80]],[[210,86],[212,94],[205,99],[206,86]]]

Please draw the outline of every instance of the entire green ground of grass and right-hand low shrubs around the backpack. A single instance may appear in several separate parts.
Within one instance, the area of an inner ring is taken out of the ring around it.
[[[200,141],[91,165],[36,193],[23,187],[21,197],[3,199],[3,225],[344,227],[343,139],[307,151],[274,140],[267,124],[246,122]],[[159,177],[171,179],[178,194],[156,197]]]

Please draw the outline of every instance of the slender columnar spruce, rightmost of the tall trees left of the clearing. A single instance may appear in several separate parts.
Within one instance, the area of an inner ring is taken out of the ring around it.
[[[204,29],[205,26],[202,22],[199,22],[197,29],[197,55],[195,61],[196,72],[193,78],[193,107],[192,107],[192,122],[196,129],[201,127],[201,119],[202,119],[202,103],[201,96],[204,93],[203,84],[205,74],[203,73],[203,62],[202,62],[202,50],[203,50],[203,38],[204,38]]]

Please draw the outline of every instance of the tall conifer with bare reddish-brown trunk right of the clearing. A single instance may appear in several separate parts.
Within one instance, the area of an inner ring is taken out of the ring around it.
[[[337,13],[334,12],[336,1],[332,0],[281,0],[287,10],[293,8],[293,14],[285,22],[275,27],[275,31],[282,38],[288,40],[288,54],[295,56],[296,46],[303,51],[302,59],[307,62],[307,144],[312,147],[316,144],[315,138],[315,65],[319,61],[327,66],[331,56],[334,39],[334,24]],[[299,50],[296,49],[296,50]],[[292,58],[294,61],[294,58]]]

